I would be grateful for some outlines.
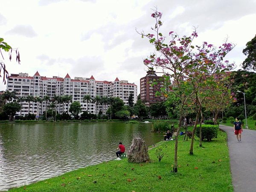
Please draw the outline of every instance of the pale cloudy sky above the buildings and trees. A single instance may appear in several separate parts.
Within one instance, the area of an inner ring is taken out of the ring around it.
[[[143,59],[154,52],[138,32],[152,33],[152,9],[163,13],[165,36],[191,35],[195,26],[198,45],[218,47],[228,38],[236,47],[225,60],[234,61],[236,70],[256,34],[256,0],[2,0],[0,7],[0,38],[20,52],[20,64],[3,52],[9,74],[118,77],[135,83],[138,93],[147,71]]]

